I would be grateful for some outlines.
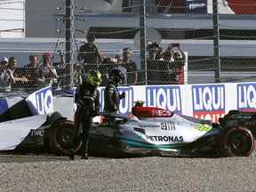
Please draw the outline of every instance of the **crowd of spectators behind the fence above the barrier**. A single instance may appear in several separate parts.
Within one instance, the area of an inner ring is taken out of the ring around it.
[[[95,48],[95,49],[94,49]],[[184,84],[184,65],[186,56],[180,44],[170,44],[164,50],[159,44],[148,43],[148,84]],[[100,52],[95,44],[85,43],[77,52],[77,62],[72,65],[73,86],[83,83],[90,69],[99,70],[102,75],[101,86],[108,83],[108,74],[118,68],[124,74],[122,85],[141,85],[145,82],[145,66],[138,68],[132,56],[132,49],[124,47],[121,54],[108,57]],[[20,67],[15,57],[0,59],[1,92],[33,92],[44,86],[68,88],[70,73],[64,55],[59,54],[59,62],[53,61],[51,52],[44,52],[42,59],[29,55],[29,63]]]

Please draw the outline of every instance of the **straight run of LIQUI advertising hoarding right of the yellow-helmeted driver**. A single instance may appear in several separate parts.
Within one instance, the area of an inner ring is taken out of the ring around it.
[[[132,113],[136,100],[144,106],[166,108],[178,114],[217,122],[229,110],[256,112],[256,83],[148,85],[120,87],[125,92],[120,114]],[[104,108],[104,88],[100,88],[100,110]]]

